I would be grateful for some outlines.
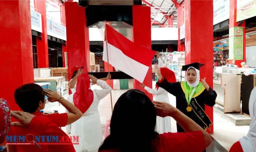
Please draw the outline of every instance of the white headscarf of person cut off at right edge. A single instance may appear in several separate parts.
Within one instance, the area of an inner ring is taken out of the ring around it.
[[[252,118],[250,129],[246,136],[239,139],[244,152],[256,152],[256,88],[251,92],[249,100],[249,113]]]

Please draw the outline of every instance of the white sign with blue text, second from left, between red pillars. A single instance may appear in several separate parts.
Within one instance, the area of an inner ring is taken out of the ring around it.
[[[67,40],[66,27],[48,17],[46,18],[46,24],[47,35],[54,36],[65,41]]]

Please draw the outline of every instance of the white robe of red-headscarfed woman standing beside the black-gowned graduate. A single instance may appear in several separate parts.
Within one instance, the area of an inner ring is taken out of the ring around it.
[[[169,98],[168,98],[168,92],[159,87],[158,90],[157,89],[151,89],[148,87],[145,87],[144,89],[147,90],[147,92],[155,95],[155,100],[156,101],[161,101],[161,102],[165,102],[165,103],[169,103]],[[161,133],[165,133],[165,132],[171,132],[171,117],[159,117],[157,116],[157,132]]]

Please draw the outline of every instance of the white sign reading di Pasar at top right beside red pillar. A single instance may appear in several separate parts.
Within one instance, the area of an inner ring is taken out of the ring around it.
[[[213,25],[229,19],[229,0],[213,1]]]

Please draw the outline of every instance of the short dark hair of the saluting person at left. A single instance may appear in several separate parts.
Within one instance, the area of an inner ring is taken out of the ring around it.
[[[28,83],[15,90],[14,98],[23,111],[33,113],[40,101],[44,103],[45,93],[40,85]]]

